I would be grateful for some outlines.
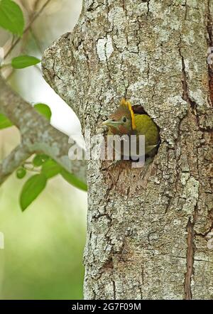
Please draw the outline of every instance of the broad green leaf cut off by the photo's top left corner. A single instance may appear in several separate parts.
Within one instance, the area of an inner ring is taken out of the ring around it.
[[[0,1],[0,26],[13,34],[22,36],[23,13],[20,6],[11,0]]]

